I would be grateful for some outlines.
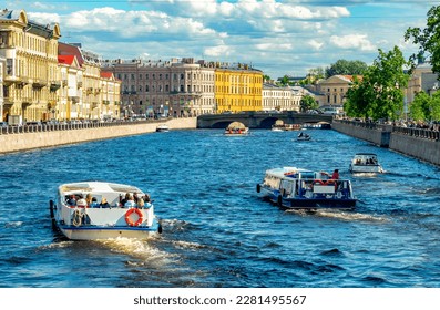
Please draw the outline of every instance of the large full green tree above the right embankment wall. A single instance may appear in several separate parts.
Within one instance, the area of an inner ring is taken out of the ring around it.
[[[347,115],[372,120],[397,120],[403,112],[403,89],[409,75],[403,72],[408,62],[395,46],[388,53],[379,49],[379,55],[367,69],[362,80],[355,80],[347,92],[344,110]]]

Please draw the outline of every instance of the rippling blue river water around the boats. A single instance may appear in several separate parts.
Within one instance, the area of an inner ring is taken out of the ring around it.
[[[0,156],[0,287],[440,287],[439,168],[335,131],[172,131]],[[386,174],[351,176],[357,152]],[[266,169],[352,180],[354,211],[284,211],[258,198]],[[62,183],[133,184],[164,232],[147,241],[69,241],[51,229]]]

